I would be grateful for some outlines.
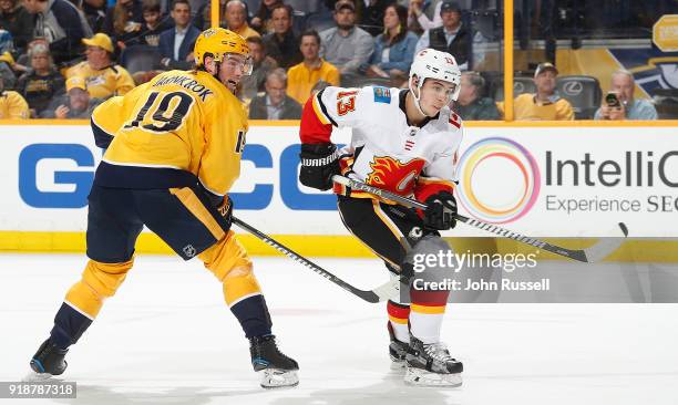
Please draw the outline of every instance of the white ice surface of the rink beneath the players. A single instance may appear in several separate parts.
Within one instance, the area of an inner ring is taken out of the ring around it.
[[[318,259],[361,288],[377,260]],[[0,255],[0,381],[18,381],[48,336],[84,256]],[[255,258],[298,387],[264,391],[247,341],[202,263],[140,256],[71,349],[76,399],[19,404],[678,404],[678,305],[455,304],[443,339],[459,390],[403,386],[389,370],[383,304],[366,303],[286,258]]]

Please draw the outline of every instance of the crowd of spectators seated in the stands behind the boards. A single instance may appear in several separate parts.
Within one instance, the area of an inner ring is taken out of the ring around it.
[[[434,48],[464,72],[453,108],[464,120],[501,120],[504,103],[472,71],[473,46],[486,38],[463,18],[492,3],[220,0],[220,25],[250,48],[254,72],[237,92],[250,118],[299,118],[327,85],[407,87],[414,54]],[[192,69],[195,40],[209,27],[208,0],[0,0],[0,118],[89,118],[110,96],[163,71]],[[514,101],[516,120],[575,118],[557,74],[552,63],[538,64],[534,91]],[[619,103],[605,97],[596,120],[657,118],[650,102],[634,98],[633,74],[615,72],[610,85]]]

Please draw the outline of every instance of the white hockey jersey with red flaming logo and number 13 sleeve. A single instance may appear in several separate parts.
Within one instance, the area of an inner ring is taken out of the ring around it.
[[[444,107],[421,127],[410,125],[407,93],[379,86],[327,87],[305,107],[301,142],[330,142],[331,126],[351,127],[351,142],[340,152],[345,175],[421,200],[441,189],[452,190],[462,120]]]

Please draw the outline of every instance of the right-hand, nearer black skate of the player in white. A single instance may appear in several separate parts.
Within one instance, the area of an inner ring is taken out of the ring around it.
[[[404,382],[411,385],[448,386],[462,384],[464,366],[452,359],[444,343],[424,344],[410,335],[410,350],[405,356]]]

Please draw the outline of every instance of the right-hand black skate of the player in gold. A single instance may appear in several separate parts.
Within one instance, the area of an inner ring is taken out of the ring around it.
[[[251,366],[261,373],[261,387],[278,388],[299,384],[299,364],[282,354],[276,345],[276,336],[255,336],[249,339]]]

